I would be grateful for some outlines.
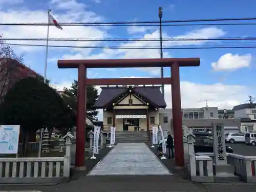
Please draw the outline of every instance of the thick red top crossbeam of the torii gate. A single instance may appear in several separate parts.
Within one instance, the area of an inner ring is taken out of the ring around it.
[[[75,69],[80,64],[85,68],[171,67],[174,63],[180,67],[197,67],[200,58],[58,60],[58,68]]]

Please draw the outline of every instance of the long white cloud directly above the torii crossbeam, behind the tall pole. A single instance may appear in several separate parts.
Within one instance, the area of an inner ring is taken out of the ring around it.
[[[163,33],[162,36],[165,39],[169,38],[213,38],[213,37],[221,37],[225,35],[225,32],[216,27],[209,27],[203,28],[200,30],[194,30],[184,35],[174,36],[171,37],[166,33]],[[160,33],[159,30],[155,30],[154,32],[146,33],[141,37],[141,39],[159,39]],[[203,44],[206,41],[164,41],[163,47],[169,46],[181,46],[181,45],[196,45],[196,44]],[[64,55],[63,58],[73,58],[73,59],[115,59],[115,58],[160,58],[159,53],[159,41],[131,41],[125,42],[120,44],[120,47],[125,48],[134,48],[134,47],[155,47],[157,49],[110,49],[106,47],[103,49],[101,53],[94,54],[94,55],[83,55],[83,54],[73,54],[72,55]],[[163,57],[169,58],[172,57],[169,52],[163,51]],[[153,75],[159,75],[160,69],[159,68],[138,68],[139,70],[148,71]]]

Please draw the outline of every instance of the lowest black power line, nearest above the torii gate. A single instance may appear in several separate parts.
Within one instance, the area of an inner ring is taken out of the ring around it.
[[[46,47],[46,45],[34,45],[34,44],[3,44],[9,46],[22,46],[22,47]],[[48,47],[56,48],[92,48],[92,49],[159,49],[158,47],[102,47],[102,46],[54,46]],[[256,46],[233,46],[233,47],[165,47],[163,49],[240,49],[240,48],[256,48]]]

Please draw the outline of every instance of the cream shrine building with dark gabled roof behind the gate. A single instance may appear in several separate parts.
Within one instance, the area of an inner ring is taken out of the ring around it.
[[[159,109],[166,103],[160,86],[101,87],[96,108],[103,110],[103,131],[150,131],[160,124]]]

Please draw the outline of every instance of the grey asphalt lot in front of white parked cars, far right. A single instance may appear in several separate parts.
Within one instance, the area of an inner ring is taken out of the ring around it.
[[[244,156],[256,156],[256,146],[246,145],[245,143],[226,143],[233,148],[234,154]]]

